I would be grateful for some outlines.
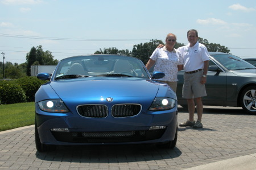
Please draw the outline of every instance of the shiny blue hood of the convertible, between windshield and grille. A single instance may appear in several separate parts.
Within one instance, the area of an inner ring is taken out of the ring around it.
[[[106,97],[155,97],[159,83],[144,78],[84,78],[52,81],[52,89],[62,99]]]

